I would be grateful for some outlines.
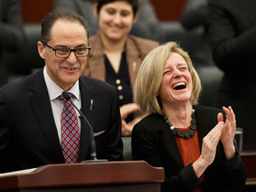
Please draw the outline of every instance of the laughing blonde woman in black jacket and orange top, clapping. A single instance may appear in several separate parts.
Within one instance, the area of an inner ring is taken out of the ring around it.
[[[179,45],[148,53],[134,100],[150,115],[132,130],[132,158],[164,167],[162,191],[241,191],[246,171],[234,142],[235,114],[231,107],[197,106],[200,91],[196,70]]]

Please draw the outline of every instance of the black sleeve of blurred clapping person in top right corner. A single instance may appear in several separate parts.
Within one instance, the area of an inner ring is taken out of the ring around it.
[[[247,67],[254,65],[252,58],[255,59],[256,52],[256,26],[243,33],[238,32],[238,25],[243,26],[243,20],[239,20],[238,15],[235,20],[232,16],[235,12],[228,12],[227,6],[225,1],[209,0],[212,55],[216,65],[223,71],[241,73],[241,63]],[[239,30],[241,29],[242,27]]]

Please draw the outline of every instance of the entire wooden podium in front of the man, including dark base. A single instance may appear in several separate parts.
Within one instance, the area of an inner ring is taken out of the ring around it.
[[[160,192],[164,168],[145,161],[49,164],[34,172],[0,177],[0,191]]]

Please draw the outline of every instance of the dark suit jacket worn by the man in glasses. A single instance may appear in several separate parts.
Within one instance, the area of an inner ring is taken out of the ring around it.
[[[79,82],[84,116],[93,132],[105,131],[95,136],[98,158],[123,160],[116,89],[88,76]],[[1,172],[65,163],[43,69],[0,89],[0,116]],[[90,128],[82,120],[78,162],[85,159],[90,159]]]

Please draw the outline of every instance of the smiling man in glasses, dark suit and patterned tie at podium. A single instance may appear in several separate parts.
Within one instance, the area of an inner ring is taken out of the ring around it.
[[[81,76],[90,51],[84,18],[68,11],[50,12],[42,21],[37,48],[45,67],[0,88],[0,172],[67,163],[61,142],[63,91],[71,93],[92,124],[98,158],[123,160],[116,89]],[[82,118],[77,127],[80,145],[75,163],[91,158],[90,127]]]

